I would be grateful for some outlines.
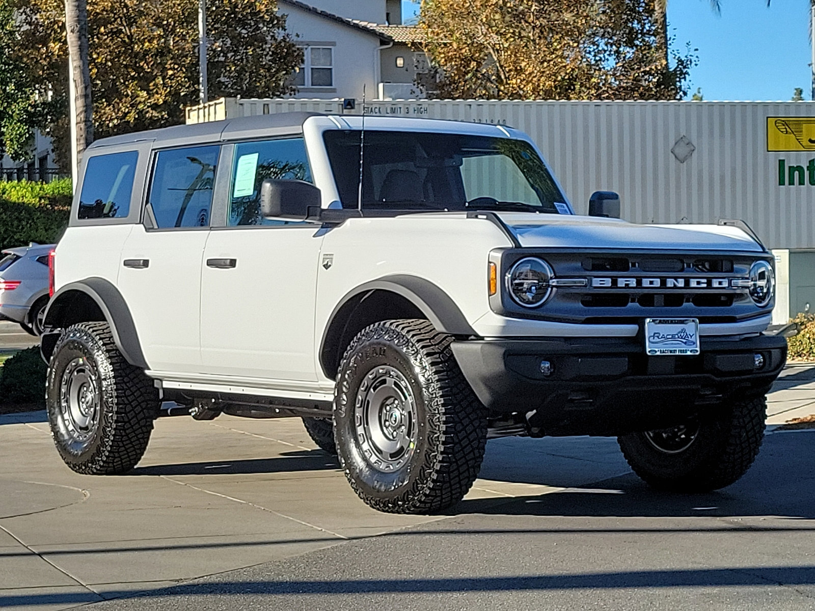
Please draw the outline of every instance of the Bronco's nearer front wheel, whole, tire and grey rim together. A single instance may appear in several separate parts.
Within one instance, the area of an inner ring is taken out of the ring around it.
[[[487,411],[451,344],[426,320],[388,320],[359,332],[342,358],[337,452],[351,487],[372,508],[439,512],[478,476]]]

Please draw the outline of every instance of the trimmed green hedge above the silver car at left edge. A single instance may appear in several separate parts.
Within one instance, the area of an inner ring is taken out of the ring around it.
[[[0,248],[56,242],[70,206],[70,179],[0,182]]]

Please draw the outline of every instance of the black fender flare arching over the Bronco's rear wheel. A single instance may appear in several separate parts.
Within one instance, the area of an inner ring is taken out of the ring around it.
[[[116,342],[116,347],[126,361],[135,367],[149,369],[130,308],[127,307],[127,302],[121,296],[119,289],[104,278],[87,278],[72,282],[55,292],[46,310],[44,323],[46,329],[64,327],[64,320],[66,320],[71,301],[69,295],[76,292],[84,293],[99,307],[104,319],[110,325],[113,341]],[[46,363],[51,358],[56,341],[59,340],[59,333],[59,331],[46,331],[42,335],[40,351]]]

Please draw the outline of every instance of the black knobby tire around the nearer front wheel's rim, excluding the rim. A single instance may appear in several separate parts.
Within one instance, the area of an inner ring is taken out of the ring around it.
[[[372,508],[441,512],[458,503],[478,476],[487,410],[462,375],[452,341],[426,320],[387,320],[359,332],[341,360],[334,399],[337,453],[351,487]],[[357,393],[377,367],[399,371],[415,398],[415,446],[407,464],[390,473],[363,455],[355,425]]]

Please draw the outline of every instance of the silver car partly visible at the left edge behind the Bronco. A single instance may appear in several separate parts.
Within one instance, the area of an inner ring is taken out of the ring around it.
[[[7,248],[0,258],[0,320],[20,323],[33,336],[42,335],[48,306],[48,253],[55,244]]]

